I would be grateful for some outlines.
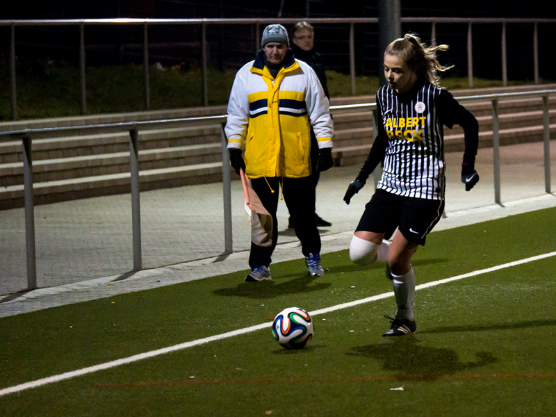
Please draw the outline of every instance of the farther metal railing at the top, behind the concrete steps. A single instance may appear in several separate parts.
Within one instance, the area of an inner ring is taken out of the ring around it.
[[[206,27],[208,25],[248,24],[255,26],[255,38],[261,38],[261,25],[272,23],[295,24],[297,22],[310,22],[311,24],[350,24],[349,56],[350,56],[350,80],[351,94],[356,94],[355,89],[355,24],[378,24],[376,17],[359,18],[266,18],[266,19],[45,19],[45,20],[0,20],[0,27],[10,28],[10,108],[12,120],[17,120],[17,88],[15,77],[15,28],[19,26],[79,26],[79,82],[81,90],[81,114],[86,114],[86,91],[85,91],[85,26],[92,25],[133,25],[143,26],[143,66],[145,76],[145,108],[150,110],[150,88],[149,88],[149,26],[158,25],[197,25],[201,26],[201,48],[202,48],[202,86],[203,104],[208,106],[208,79],[207,79],[207,40]],[[425,23],[431,24],[431,43],[436,44],[437,24],[467,24],[467,68],[468,85],[473,88],[473,25],[475,24],[501,24],[500,51],[502,57],[502,85],[507,86],[507,24],[532,24],[533,25],[533,64],[534,82],[540,82],[539,76],[539,24],[555,24],[556,19],[506,19],[506,18],[467,18],[467,17],[402,17],[402,24]],[[257,43],[257,42],[255,42]],[[550,51],[546,51],[550,56]]]

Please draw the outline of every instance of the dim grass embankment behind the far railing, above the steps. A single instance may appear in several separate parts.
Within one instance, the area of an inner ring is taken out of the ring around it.
[[[79,68],[72,65],[43,62],[18,63],[16,68],[17,118],[40,119],[81,115]],[[208,104],[227,104],[236,71],[208,69]],[[327,72],[331,97],[351,95],[349,75]],[[514,81],[509,85],[526,84]],[[187,108],[203,105],[202,72],[181,67],[163,70],[149,68],[151,110]],[[128,113],[145,111],[145,74],[142,65],[87,67],[85,74],[87,114]],[[357,95],[374,95],[376,76],[357,76]],[[466,78],[445,78],[442,85],[449,90],[468,88]],[[502,85],[501,81],[475,79],[476,88]],[[0,120],[10,120],[11,89],[8,65],[0,63]]]

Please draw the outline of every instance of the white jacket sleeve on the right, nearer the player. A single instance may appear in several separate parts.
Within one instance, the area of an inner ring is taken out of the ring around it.
[[[332,147],[334,126],[332,124],[332,117],[330,117],[330,105],[325,95],[325,90],[322,90],[322,85],[320,85],[318,76],[313,71],[313,68],[309,65],[304,65],[303,71],[307,74],[308,79],[307,93],[305,95],[307,114],[317,138],[318,148]]]

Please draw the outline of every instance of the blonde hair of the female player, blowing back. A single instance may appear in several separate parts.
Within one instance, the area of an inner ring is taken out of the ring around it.
[[[417,74],[418,79],[425,79],[434,85],[439,85],[439,72],[445,72],[453,67],[444,67],[436,59],[436,51],[445,51],[448,45],[427,47],[412,33],[407,33],[403,38],[396,39],[386,47],[384,55],[398,56],[405,60],[409,70]]]

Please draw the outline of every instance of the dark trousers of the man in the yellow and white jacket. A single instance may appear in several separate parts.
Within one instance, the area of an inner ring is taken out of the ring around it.
[[[268,181],[268,183],[267,183]],[[320,253],[320,234],[318,233],[315,217],[315,188],[311,177],[304,178],[279,178],[267,177],[251,179],[251,185],[255,193],[261,199],[261,203],[272,215],[272,245],[263,247],[251,243],[249,265],[270,265],[272,252],[274,252],[278,241],[278,221],[276,211],[278,209],[279,186],[284,195],[284,202],[288,207],[293,222],[293,229],[299,238],[304,256],[310,253]],[[272,190],[274,193],[272,193]]]

